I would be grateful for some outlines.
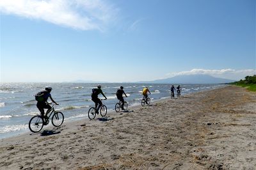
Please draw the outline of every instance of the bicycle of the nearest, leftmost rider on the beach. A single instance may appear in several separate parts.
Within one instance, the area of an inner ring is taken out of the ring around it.
[[[48,113],[49,116],[47,116],[46,114],[45,117],[42,118],[41,115],[36,115],[31,118],[31,120],[29,121],[29,130],[31,132],[34,132],[34,133],[39,132],[40,130],[42,130],[44,125],[48,125],[51,115],[52,115],[52,125],[54,125],[54,127],[60,127],[60,125],[62,125],[64,121],[63,113],[59,111],[55,111],[54,105],[56,104],[51,104],[51,105],[52,105],[52,109]]]

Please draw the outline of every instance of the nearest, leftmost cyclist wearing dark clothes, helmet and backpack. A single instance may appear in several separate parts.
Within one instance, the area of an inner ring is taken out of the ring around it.
[[[36,107],[38,108],[38,110],[41,112],[42,114],[42,118],[44,117],[44,109],[48,109],[46,111],[45,116],[51,111],[52,107],[51,105],[48,104],[47,100],[50,97],[52,102],[54,102],[54,104],[59,105],[58,103],[56,103],[52,96],[51,96],[51,91],[52,88],[51,87],[46,87],[44,91],[40,91],[37,95],[40,95],[40,97],[36,97],[37,100],[37,104]],[[39,98],[39,99],[38,99]]]

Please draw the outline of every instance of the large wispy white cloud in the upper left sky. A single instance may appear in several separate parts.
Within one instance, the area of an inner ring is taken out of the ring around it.
[[[74,29],[103,31],[115,20],[118,9],[102,0],[1,0],[0,12]]]

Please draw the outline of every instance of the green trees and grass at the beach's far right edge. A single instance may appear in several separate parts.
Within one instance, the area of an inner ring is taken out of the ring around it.
[[[256,75],[246,76],[244,80],[241,79],[240,81],[231,82],[230,84],[247,88],[250,91],[256,91]]]

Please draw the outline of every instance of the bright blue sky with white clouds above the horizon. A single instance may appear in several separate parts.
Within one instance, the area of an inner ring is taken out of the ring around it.
[[[0,81],[256,74],[254,0],[1,0]]]

